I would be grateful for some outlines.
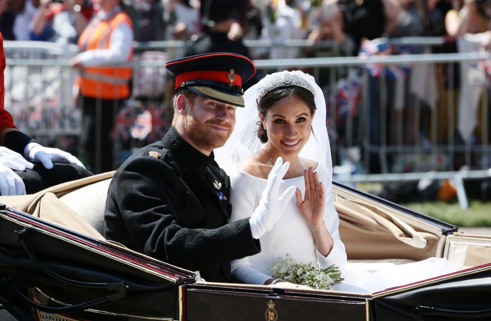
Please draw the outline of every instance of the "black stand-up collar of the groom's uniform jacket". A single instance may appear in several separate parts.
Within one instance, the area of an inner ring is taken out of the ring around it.
[[[198,172],[205,171],[215,158],[213,152],[211,152],[210,156],[207,156],[192,147],[183,139],[174,126],[167,131],[167,134],[162,139],[162,144],[171,152],[172,157],[186,164],[189,168],[195,168]]]

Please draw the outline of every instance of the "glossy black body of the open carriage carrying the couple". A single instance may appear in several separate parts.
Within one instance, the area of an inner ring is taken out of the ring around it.
[[[436,226],[443,238],[457,231],[346,191]],[[196,282],[191,271],[0,210],[0,300],[21,320],[485,320],[491,319],[490,274],[491,264],[481,265],[377,293]]]

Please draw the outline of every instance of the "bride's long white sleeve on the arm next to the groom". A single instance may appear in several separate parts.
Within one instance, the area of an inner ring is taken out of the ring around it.
[[[256,180],[234,168],[230,173],[230,202],[232,215],[229,222],[250,217],[256,209]],[[231,262],[232,274],[244,283],[263,284],[270,279],[252,267],[249,257]]]

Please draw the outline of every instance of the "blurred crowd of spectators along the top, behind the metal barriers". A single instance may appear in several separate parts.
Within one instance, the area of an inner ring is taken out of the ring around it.
[[[213,4],[213,2],[215,4]],[[332,40],[357,55],[363,38],[450,36],[490,29],[487,0],[126,0],[135,40],[193,40],[210,17],[232,19],[228,37]],[[230,4],[227,4],[230,3]],[[76,43],[99,0],[0,0],[6,40]],[[229,8],[232,6],[232,8]],[[229,8],[229,9],[228,9]],[[258,49],[251,55],[296,58],[298,49]]]

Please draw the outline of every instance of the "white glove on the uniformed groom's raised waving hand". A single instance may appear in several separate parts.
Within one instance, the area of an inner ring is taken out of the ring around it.
[[[295,186],[291,186],[278,197],[280,182],[283,176],[285,176],[289,165],[288,162],[283,164],[283,158],[278,157],[275,166],[273,166],[273,169],[267,176],[266,188],[262,192],[258,207],[254,210],[254,214],[249,220],[252,237],[255,239],[259,239],[264,233],[271,231],[275,227],[286,204],[292,198],[293,194],[295,194],[296,188]]]

